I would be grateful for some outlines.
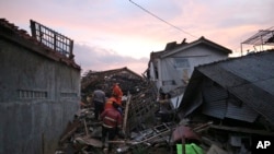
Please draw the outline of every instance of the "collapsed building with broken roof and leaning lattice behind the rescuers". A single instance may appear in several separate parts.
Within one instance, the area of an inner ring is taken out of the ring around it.
[[[110,97],[114,83],[119,83],[124,96],[128,97],[128,104],[126,100],[123,102],[129,110],[127,130],[138,128],[148,117],[153,118],[156,110],[152,108],[157,99],[156,86],[126,67],[106,71],[88,71],[81,80],[83,100],[87,102],[85,96],[92,94],[96,85],[103,85],[106,97]]]

